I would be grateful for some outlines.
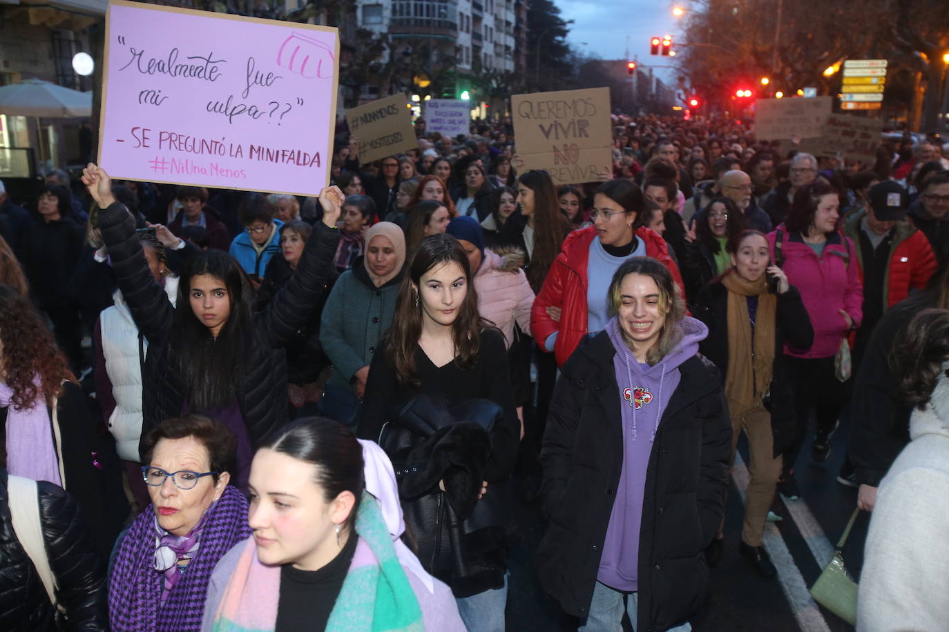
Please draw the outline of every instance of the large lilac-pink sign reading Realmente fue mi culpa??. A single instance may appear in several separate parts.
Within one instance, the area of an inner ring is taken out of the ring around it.
[[[317,195],[336,28],[109,4],[99,163],[114,178]]]

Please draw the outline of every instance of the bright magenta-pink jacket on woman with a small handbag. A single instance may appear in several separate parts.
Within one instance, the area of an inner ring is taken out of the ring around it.
[[[854,245],[839,232],[834,233],[828,236],[824,252],[818,258],[800,235],[789,233],[782,225],[768,235],[772,261],[775,260],[774,241],[778,231],[783,233],[781,250],[784,262],[781,268],[791,285],[801,291],[814,328],[814,343],[809,350],[786,345],[784,352],[800,358],[832,357],[840,348],[841,338],[847,334],[847,319],[839,310],[847,312],[854,329],[860,327],[864,317],[864,286],[860,281],[860,265],[856,261]]]

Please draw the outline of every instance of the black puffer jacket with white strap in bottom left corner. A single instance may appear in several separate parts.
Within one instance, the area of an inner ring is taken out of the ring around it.
[[[0,629],[106,630],[105,567],[85,529],[79,505],[52,483],[37,485],[49,567],[68,623],[57,626],[43,581],[16,538],[9,514],[7,471],[0,470]]]

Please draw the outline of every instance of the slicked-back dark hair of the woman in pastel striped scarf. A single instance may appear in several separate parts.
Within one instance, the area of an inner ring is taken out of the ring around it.
[[[260,447],[315,465],[313,482],[323,490],[326,502],[352,492],[356,504],[345,525],[353,533],[365,488],[365,463],[363,446],[352,430],[331,419],[307,417],[271,432]]]

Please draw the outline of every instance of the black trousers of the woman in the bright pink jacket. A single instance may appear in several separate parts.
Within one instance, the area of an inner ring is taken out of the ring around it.
[[[784,475],[794,469],[794,462],[808,434],[811,414],[817,423],[817,432],[828,434],[840,418],[841,410],[850,392],[850,383],[841,382],[834,375],[833,356],[828,358],[798,358],[784,356],[791,374],[794,392],[794,442],[784,454]]]

